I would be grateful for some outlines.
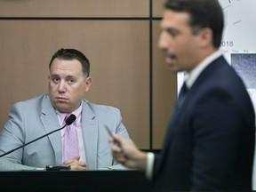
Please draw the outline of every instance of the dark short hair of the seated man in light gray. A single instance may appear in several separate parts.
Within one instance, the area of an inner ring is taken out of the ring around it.
[[[52,59],[49,63],[49,69],[51,69],[52,61],[56,58],[60,60],[79,60],[82,65],[84,76],[90,75],[90,61],[85,57],[83,52],[79,52],[76,49],[61,48],[52,55]]]

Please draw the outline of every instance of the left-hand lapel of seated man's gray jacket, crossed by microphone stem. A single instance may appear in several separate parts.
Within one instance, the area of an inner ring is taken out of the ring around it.
[[[46,132],[52,132],[58,128],[60,128],[60,124],[58,123],[58,117],[56,115],[55,109],[52,107],[52,103],[48,97],[45,95],[42,100],[42,115],[41,115],[42,123],[44,124],[44,129]],[[59,136],[56,136],[58,135]],[[48,135],[48,138],[52,144],[52,148],[55,155],[56,164],[60,164],[62,162],[62,150],[61,150],[61,135],[59,132],[53,132]]]

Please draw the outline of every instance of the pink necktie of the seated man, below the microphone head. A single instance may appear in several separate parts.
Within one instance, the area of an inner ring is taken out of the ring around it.
[[[65,121],[70,116],[67,114]],[[76,126],[73,124],[67,125],[64,134],[64,161],[79,156],[78,140],[76,134]]]

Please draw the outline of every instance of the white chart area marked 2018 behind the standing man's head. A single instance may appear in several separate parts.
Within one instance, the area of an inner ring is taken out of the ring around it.
[[[231,53],[256,52],[256,28],[252,25],[256,12],[255,0],[219,0],[225,17],[220,49],[231,61]]]

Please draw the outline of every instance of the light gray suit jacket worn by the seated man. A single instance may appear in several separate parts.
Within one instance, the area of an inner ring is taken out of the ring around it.
[[[82,130],[84,148],[89,170],[124,169],[116,164],[111,154],[108,132],[129,139],[117,108],[95,105],[83,100]],[[60,128],[55,109],[47,94],[13,105],[9,120],[0,134],[0,154],[18,148],[31,140]],[[45,168],[47,164],[62,164],[60,132],[20,148],[0,158],[0,170],[34,170]]]

